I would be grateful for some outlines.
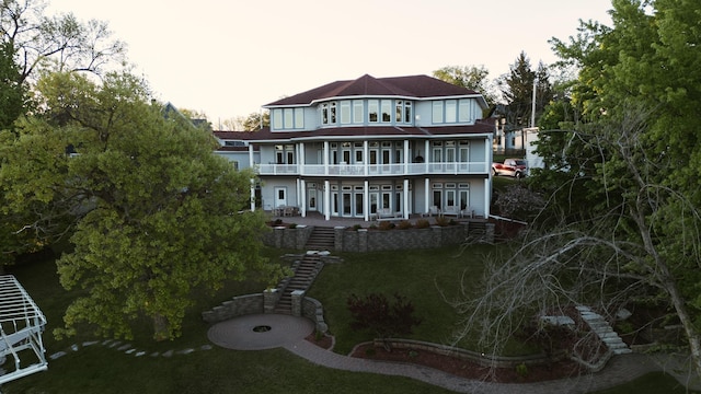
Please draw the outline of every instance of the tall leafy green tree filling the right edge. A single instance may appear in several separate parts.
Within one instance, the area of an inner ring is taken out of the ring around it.
[[[565,126],[568,131],[545,130],[550,137],[538,150],[549,165],[532,181],[562,196],[551,199],[560,202],[551,218],[574,213],[564,225],[576,217],[587,223],[578,239],[606,246],[589,246],[598,255],[584,262],[616,263],[607,267],[619,269],[618,277],[647,285],[636,287],[644,290],[636,294],[628,291],[629,281],[619,282],[625,291],[621,299],[644,294],[668,303],[701,375],[698,4],[613,0],[612,5],[611,27],[587,22],[568,42],[552,42],[562,62],[579,69],[572,103],[583,121]],[[550,228],[554,233],[563,227]],[[572,240],[552,243],[547,255],[573,269],[576,262],[562,258],[567,245]]]

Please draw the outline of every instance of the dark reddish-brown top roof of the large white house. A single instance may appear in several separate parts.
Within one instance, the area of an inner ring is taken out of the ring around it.
[[[428,76],[374,78],[365,74],[353,81],[336,81],[264,105],[309,105],[314,101],[349,96],[441,97],[479,94]]]

